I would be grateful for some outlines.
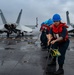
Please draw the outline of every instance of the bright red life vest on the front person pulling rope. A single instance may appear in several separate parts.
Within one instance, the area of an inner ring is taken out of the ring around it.
[[[63,31],[63,27],[68,28],[68,26],[65,23],[60,23],[60,25],[57,27],[54,24],[52,25],[54,39],[60,37],[60,34]],[[66,36],[63,39],[63,41],[66,41],[66,40],[68,40],[68,31],[66,32]]]

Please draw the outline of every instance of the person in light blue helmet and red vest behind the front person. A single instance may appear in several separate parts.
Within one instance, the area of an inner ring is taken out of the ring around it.
[[[40,31],[41,31],[40,40],[41,40],[41,46],[42,46],[43,49],[47,48],[47,42],[48,42],[47,34],[49,33],[50,25],[52,25],[52,24],[53,24],[53,21],[51,19],[46,20],[45,22],[43,22],[41,24],[41,28],[40,28]]]

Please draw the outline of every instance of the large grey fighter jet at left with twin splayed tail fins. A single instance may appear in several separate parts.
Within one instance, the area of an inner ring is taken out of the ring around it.
[[[23,32],[32,32],[31,28],[19,24],[21,14],[22,14],[22,9],[18,15],[16,22],[15,23],[8,23],[3,15],[2,10],[0,9],[0,15],[1,15],[1,18],[3,21],[3,25],[0,25],[0,33],[7,33],[7,37],[9,37],[9,35],[12,33],[16,33],[17,35],[20,35],[20,34],[23,35]]]

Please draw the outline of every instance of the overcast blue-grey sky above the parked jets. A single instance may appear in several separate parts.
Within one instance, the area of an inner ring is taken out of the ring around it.
[[[52,18],[58,13],[62,21],[66,22],[66,11],[69,11],[70,21],[74,23],[74,0],[0,0],[0,9],[8,22],[15,22],[21,9],[23,9],[20,24],[34,25],[36,17],[38,23]],[[0,24],[2,20],[0,17]]]

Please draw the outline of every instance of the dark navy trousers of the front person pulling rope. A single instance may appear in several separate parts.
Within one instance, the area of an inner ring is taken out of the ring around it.
[[[61,53],[61,56],[58,57],[58,64],[64,64],[64,60],[65,60],[65,54],[66,54],[66,50],[69,46],[69,40],[62,42],[62,43],[58,43],[56,42],[55,44],[52,45],[53,49],[57,49],[59,50],[59,52]]]

